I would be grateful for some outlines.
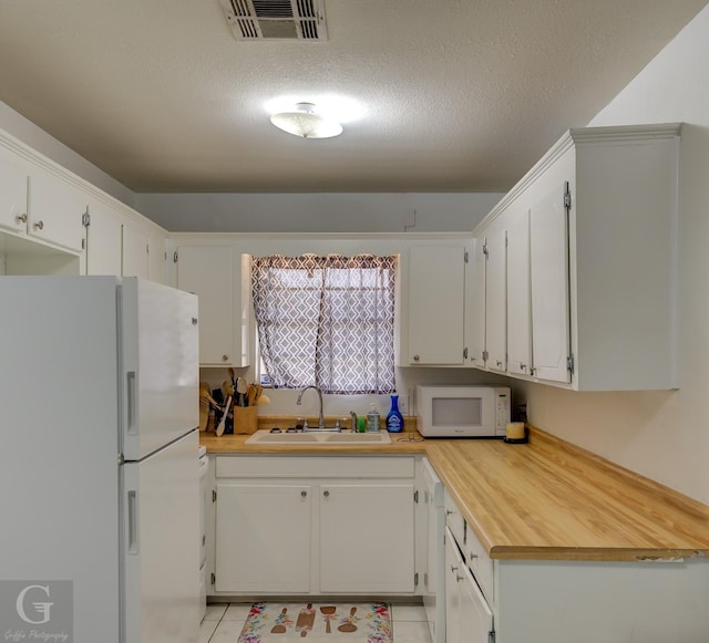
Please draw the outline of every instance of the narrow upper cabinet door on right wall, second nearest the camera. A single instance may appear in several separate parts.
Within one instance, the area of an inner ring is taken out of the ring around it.
[[[530,375],[531,367],[530,210],[520,207],[507,219],[507,372]]]

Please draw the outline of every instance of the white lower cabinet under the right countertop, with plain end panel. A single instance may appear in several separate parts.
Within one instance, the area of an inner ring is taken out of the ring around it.
[[[705,643],[709,559],[492,560],[445,494],[446,643]]]

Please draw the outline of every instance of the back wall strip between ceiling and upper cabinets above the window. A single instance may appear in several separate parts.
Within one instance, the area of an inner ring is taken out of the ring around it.
[[[138,194],[135,208],[171,232],[470,232],[502,196]]]

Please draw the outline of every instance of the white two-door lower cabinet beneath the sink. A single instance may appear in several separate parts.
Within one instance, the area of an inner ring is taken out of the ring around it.
[[[413,594],[415,461],[216,458],[214,594]]]

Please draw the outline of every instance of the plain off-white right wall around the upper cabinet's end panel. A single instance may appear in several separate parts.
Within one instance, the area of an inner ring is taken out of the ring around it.
[[[524,386],[530,418],[709,504],[709,7],[589,125],[682,122],[680,374],[676,392]]]

